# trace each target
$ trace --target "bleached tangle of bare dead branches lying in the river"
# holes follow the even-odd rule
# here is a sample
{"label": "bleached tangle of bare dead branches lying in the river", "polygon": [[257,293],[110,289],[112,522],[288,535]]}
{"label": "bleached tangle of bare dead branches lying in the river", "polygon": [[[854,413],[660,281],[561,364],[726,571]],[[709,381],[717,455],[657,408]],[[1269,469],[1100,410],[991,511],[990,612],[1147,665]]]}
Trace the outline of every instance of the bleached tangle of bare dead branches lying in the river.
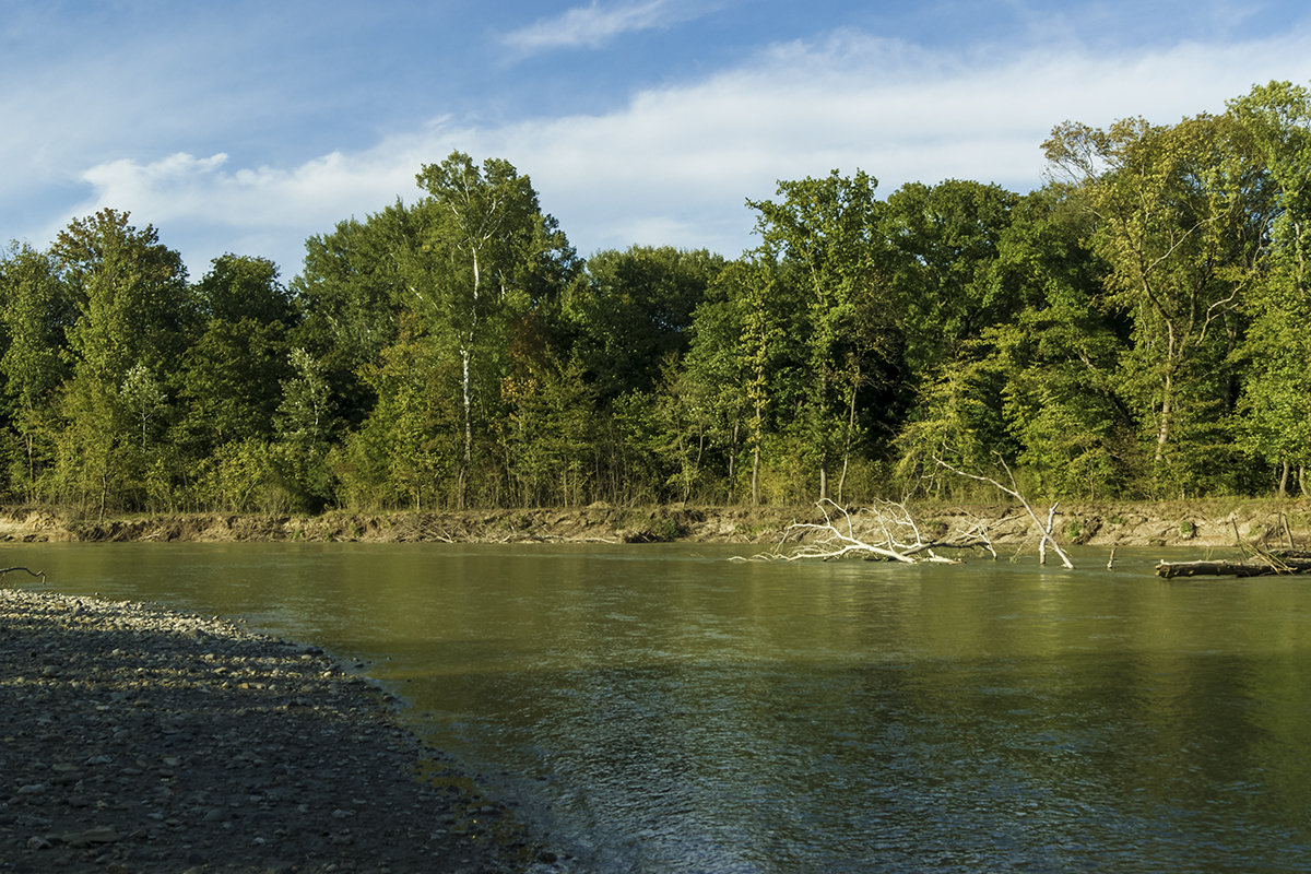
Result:
{"label": "bleached tangle of bare dead branches lying in the river", "polygon": [[[958,560],[939,556],[933,550],[974,546],[987,549],[996,558],[996,552],[987,536],[987,528],[982,523],[953,532],[944,540],[929,541],[924,540],[919,525],[915,524],[915,519],[905,504],[891,501],[880,501],[855,512],[827,498],[815,502],[815,507],[823,515],[823,523],[792,523],[784,529],[783,539],[775,552],[756,556],[756,558],[829,561],[859,556],[865,560],[894,561],[905,565],[958,563]],[[785,553],[784,545],[793,539],[808,540],[798,542],[791,553]]]}

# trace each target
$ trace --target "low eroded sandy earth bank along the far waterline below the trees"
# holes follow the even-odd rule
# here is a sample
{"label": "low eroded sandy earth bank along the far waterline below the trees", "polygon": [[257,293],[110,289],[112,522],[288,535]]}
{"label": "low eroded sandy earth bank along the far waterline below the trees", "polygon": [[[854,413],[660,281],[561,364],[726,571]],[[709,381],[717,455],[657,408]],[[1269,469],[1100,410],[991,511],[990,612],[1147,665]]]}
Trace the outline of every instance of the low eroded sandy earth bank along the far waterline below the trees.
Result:
{"label": "low eroded sandy earth bank along the far waterline below the trees", "polygon": [[[926,537],[983,524],[998,544],[1034,540],[1017,504],[910,506]],[[1046,506],[1036,507],[1045,516]],[[5,541],[371,541],[371,542],[777,542],[793,522],[818,522],[815,507],[612,507],[468,510],[319,516],[233,514],[84,518],[51,508],[0,510]],[[1299,545],[1311,541],[1311,502],[1207,499],[1062,506],[1055,536],[1087,546]]]}

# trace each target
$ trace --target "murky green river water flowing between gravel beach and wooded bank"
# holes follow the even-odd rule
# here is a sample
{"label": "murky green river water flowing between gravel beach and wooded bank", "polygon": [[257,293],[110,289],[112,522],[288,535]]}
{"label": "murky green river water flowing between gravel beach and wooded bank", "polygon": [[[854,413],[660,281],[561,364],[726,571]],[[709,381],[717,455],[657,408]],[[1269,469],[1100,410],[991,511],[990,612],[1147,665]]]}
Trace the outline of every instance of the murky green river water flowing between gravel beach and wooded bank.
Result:
{"label": "murky green river water flowing between gravel beach and wooded bank", "polygon": [[1164,550],[1063,571],[728,561],[741,549],[31,544],[0,562],[361,659],[576,870],[1311,870],[1311,583],[1164,582]]}

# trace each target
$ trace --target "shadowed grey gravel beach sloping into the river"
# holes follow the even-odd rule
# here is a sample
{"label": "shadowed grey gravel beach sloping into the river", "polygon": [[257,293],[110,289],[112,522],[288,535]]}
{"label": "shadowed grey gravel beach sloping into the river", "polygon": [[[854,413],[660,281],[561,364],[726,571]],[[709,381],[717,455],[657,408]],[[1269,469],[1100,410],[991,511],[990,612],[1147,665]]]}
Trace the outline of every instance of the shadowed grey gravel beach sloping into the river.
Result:
{"label": "shadowed grey gravel beach sloping into the river", "polygon": [[0,871],[556,871],[321,650],[0,588]]}

